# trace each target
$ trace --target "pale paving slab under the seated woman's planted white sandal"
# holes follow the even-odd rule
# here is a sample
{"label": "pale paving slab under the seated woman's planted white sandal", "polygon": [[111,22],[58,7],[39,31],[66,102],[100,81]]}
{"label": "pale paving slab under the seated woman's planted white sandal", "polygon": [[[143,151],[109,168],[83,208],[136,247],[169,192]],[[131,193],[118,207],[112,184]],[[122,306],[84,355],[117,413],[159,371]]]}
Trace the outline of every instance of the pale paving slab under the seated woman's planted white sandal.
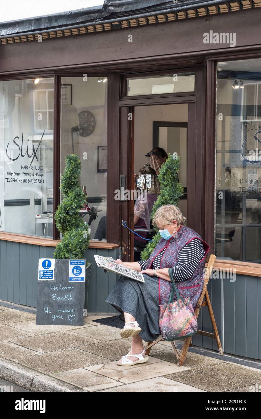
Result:
{"label": "pale paving slab under the seated woman's planted white sandal", "polygon": [[136,364],[129,367],[117,365],[116,362],[107,362],[103,365],[85,367],[85,369],[125,384],[166,375],[166,372],[187,370],[186,367],[178,367],[171,362],[157,360],[153,357],[149,357],[148,361],[143,364]]}

